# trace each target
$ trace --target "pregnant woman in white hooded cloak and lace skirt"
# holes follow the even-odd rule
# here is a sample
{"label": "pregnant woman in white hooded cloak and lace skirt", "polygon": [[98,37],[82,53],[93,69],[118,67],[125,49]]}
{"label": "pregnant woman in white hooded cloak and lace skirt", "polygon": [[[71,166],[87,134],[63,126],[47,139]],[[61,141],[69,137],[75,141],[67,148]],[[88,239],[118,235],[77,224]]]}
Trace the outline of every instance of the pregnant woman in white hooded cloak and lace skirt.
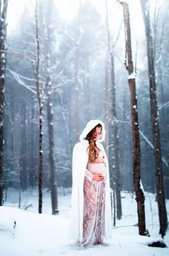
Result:
{"label": "pregnant woman in white hooded cloak and lace skirt", "polygon": [[107,157],[100,142],[105,125],[100,120],[87,123],[74,146],[72,160],[72,238],[80,247],[105,244],[112,235],[110,178]]}

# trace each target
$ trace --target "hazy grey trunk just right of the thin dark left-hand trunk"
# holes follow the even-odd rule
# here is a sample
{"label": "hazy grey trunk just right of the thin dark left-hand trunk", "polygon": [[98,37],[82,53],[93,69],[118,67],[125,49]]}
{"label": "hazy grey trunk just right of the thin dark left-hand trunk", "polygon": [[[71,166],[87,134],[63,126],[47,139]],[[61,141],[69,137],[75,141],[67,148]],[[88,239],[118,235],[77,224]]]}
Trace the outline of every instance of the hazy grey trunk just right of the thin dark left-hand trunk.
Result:
{"label": "hazy grey trunk just right of the thin dark left-hand trunk", "polygon": [[[45,1],[44,1],[45,2]],[[52,1],[46,1],[44,3],[44,9],[42,11],[42,26],[43,26],[43,38],[44,38],[44,77],[45,77],[45,89],[47,94],[47,125],[49,135],[49,170],[50,170],[50,183],[49,189],[51,192],[52,201],[52,214],[59,214],[58,211],[58,196],[57,196],[57,180],[56,180],[56,168],[54,165],[54,116],[52,105],[52,81],[51,81],[51,42],[54,31],[50,26],[52,24],[52,9],[54,8]],[[44,107],[44,106],[43,106]]]}

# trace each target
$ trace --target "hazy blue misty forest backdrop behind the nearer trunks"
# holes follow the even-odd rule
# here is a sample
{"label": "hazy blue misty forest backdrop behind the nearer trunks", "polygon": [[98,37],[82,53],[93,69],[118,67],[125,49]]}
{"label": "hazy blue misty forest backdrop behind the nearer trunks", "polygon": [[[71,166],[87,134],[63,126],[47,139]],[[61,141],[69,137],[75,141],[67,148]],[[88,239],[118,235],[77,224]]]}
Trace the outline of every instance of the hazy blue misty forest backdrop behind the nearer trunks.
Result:
{"label": "hazy blue misty forest backdrop behind the nearer trunks", "polygon": [[[107,95],[107,30],[105,1],[38,1],[40,43],[40,91],[44,89],[45,44],[49,47],[52,113],[54,116],[54,160],[58,187],[72,185],[72,148],[90,119],[111,122],[111,100]],[[150,124],[150,98],[145,32],[140,1],[130,6],[132,55],[137,71],[137,101],[141,140],[141,172],[146,191],[155,191],[155,170]],[[107,0],[111,45],[115,52],[115,83],[118,134],[120,137],[121,188],[132,191],[132,135],[130,91],[127,84],[125,32],[122,6]],[[5,91],[4,177],[9,187],[37,188],[39,170],[38,105],[32,60],[36,52],[35,1],[9,0],[7,14],[7,64]],[[165,181],[168,188],[169,114],[168,114],[168,1],[150,1],[151,24],[155,37],[155,63],[158,84],[160,134]],[[47,37],[48,35],[48,37]],[[45,41],[45,38],[47,41]],[[47,52],[46,52],[47,53]],[[46,55],[47,57],[48,55]],[[158,72],[160,63],[161,73]],[[163,87],[161,86],[163,83]],[[59,86],[59,87],[58,87]],[[163,89],[163,91],[162,91]],[[165,104],[165,106],[163,106]],[[161,109],[160,109],[161,108]],[[49,137],[47,108],[43,108],[44,176],[49,188]],[[77,125],[78,122],[78,125]],[[78,127],[78,128],[77,128]],[[105,148],[109,145],[105,142]],[[111,171],[111,166],[110,166]],[[50,188],[49,188],[50,189]]]}

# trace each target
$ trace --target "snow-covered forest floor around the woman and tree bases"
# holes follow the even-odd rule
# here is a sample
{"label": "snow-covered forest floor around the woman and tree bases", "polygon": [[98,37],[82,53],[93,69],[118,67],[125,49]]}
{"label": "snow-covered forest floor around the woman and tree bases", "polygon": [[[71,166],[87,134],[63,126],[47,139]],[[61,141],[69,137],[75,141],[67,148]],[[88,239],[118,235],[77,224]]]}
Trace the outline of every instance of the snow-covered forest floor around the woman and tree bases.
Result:
{"label": "snow-covered forest floor around the woman and tree bases", "polygon": [[[112,228],[109,246],[95,245],[85,250],[79,250],[69,239],[70,191],[59,189],[58,216],[51,215],[47,191],[44,191],[43,214],[37,214],[37,191],[22,193],[21,209],[18,209],[18,197],[18,192],[10,189],[4,206],[0,207],[0,256],[169,255],[169,230],[164,239],[167,248],[148,247],[148,243],[161,239],[158,208],[152,193],[145,193],[146,227],[150,237],[138,235],[135,197],[123,191],[122,219]],[[169,212],[169,201],[166,204]]]}

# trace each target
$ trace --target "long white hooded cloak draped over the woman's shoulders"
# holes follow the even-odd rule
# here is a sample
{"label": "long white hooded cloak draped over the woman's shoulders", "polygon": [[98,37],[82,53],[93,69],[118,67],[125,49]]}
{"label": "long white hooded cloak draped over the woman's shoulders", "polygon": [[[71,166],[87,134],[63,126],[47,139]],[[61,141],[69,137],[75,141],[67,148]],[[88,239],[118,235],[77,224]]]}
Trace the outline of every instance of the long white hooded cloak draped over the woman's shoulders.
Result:
{"label": "long white hooded cloak draped over the woman's shoulders", "polygon": [[105,140],[105,124],[101,120],[90,120],[79,137],[80,142],[74,145],[72,157],[72,204],[71,204],[71,219],[70,219],[70,236],[74,241],[82,242],[83,233],[83,208],[84,208],[84,175],[87,168],[88,153],[87,147],[89,142],[84,140],[84,137],[97,126],[102,125],[102,133],[100,139],[96,141],[96,145],[102,150],[105,157],[107,167],[106,184],[105,184],[105,231],[106,239],[112,236],[112,216],[110,204],[110,175],[108,168],[107,156],[100,142]]}

